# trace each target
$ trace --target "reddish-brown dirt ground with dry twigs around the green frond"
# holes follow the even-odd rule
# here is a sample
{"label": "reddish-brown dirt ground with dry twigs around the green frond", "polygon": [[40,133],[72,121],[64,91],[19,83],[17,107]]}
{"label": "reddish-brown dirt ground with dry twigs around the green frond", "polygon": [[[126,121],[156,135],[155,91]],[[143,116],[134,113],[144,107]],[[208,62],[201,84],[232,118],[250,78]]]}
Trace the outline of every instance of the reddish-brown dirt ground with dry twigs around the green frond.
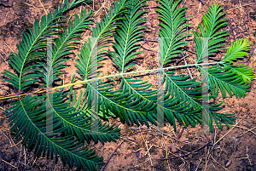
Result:
{"label": "reddish-brown dirt ground with dry twigs around the green frond", "polygon": [[[59,1],[42,0],[44,8],[46,10],[55,9]],[[113,3],[112,1],[105,1],[107,7],[102,8],[96,15],[96,21],[99,21],[105,10],[108,11],[108,7]],[[198,24],[201,22],[202,14],[206,13],[207,7],[215,1],[207,1],[205,4],[201,4],[198,0],[186,0],[186,7],[188,7],[188,16],[193,16],[189,19],[189,23],[193,24],[191,30],[195,30]],[[256,3],[255,0],[239,1],[216,1],[224,6],[224,11],[227,11],[226,17],[228,18],[228,26],[224,29],[230,31],[230,37],[227,43],[227,47],[230,43],[234,42],[236,38],[245,37],[249,40],[252,47],[250,54],[253,52],[255,46],[256,37]],[[97,0],[95,2],[95,9],[100,9],[103,1]],[[156,1],[147,2],[150,9],[147,13],[148,31],[145,33],[145,38],[157,37],[158,35],[158,20],[154,7]],[[244,5],[238,8],[240,5]],[[89,9],[89,6],[83,5],[75,9],[75,13],[79,14],[80,9]],[[92,5],[90,4],[90,8]],[[22,36],[22,32],[26,27],[32,28],[32,23],[35,19],[39,19],[44,14],[44,9],[38,0],[1,0],[0,1],[0,72],[4,69],[11,71],[12,69],[5,63],[7,56],[11,51],[17,52],[16,43],[19,43]],[[70,13],[71,14],[71,13]],[[250,14],[248,17],[247,14]],[[90,35],[90,34],[89,34]],[[88,35],[84,35],[86,37]],[[189,37],[189,40],[193,40],[193,37]],[[7,45],[9,48],[7,47]],[[189,49],[193,43],[189,43]],[[143,48],[155,47],[154,42],[143,43]],[[142,66],[144,70],[150,66],[149,60],[152,61],[154,67],[156,67],[156,54],[152,51],[144,50],[144,54],[140,54],[138,57],[137,66]],[[77,52],[78,53],[78,52]],[[220,56],[219,56],[220,57]],[[3,60],[4,59],[4,60]],[[74,57],[75,59],[75,57]],[[74,59],[67,62],[67,71],[74,73],[76,68],[74,66]],[[195,56],[187,58],[188,63],[192,63]],[[251,57],[248,65],[256,69],[255,54]],[[245,63],[247,60],[244,60]],[[106,60],[105,65],[102,68],[102,75],[107,75],[108,71],[116,73],[113,66],[109,66],[110,60]],[[180,63],[182,65],[183,62]],[[135,69],[137,69],[137,66]],[[193,70],[193,68],[191,69]],[[144,76],[143,80],[148,80],[149,83],[153,83],[156,88],[155,76]],[[70,78],[65,77],[65,83],[69,83]],[[256,134],[253,128],[256,127],[255,120],[255,101],[256,101],[256,85],[255,80],[251,83],[251,91],[247,93],[246,98],[236,99],[236,97],[228,97],[224,103],[224,110],[229,112],[236,112],[237,125],[230,129],[224,127],[223,130],[215,128],[215,133],[207,134],[207,138],[200,134],[201,126],[198,125],[195,128],[183,128],[178,127],[177,132],[172,131],[172,127],[168,125],[165,130],[170,132],[167,135],[155,134],[154,127],[151,128],[129,128],[126,124],[121,124],[119,119],[110,119],[110,123],[120,126],[121,139],[117,143],[111,142],[102,145],[90,144],[90,147],[96,150],[96,154],[104,157],[104,162],[113,153],[114,149],[119,145],[117,151],[113,153],[110,161],[108,162],[105,170],[256,170]],[[14,91],[6,85],[2,80],[0,81],[0,96],[13,94]],[[9,107],[9,103],[14,100],[0,101],[0,170],[75,170],[74,168],[63,167],[61,162],[55,164],[54,161],[48,160],[45,157],[33,158],[32,151],[24,149],[20,145],[22,136],[15,139],[14,134],[9,133],[9,122],[3,114],[3,109]],[[218,97],[217,101],[222,101]],[[231,128],[233,128],[231,130]],[[252,128],[251,131],[248,129]],[[132,132],[132,134],[130,134]],[[127,137],[127,135],[129,136]],[[180,136],[180,139],[172,140],[171,137]],[[126,139],[125,139],[126,137]],[[207,145],[199,151],[195,151],[202,145],[205,145],[207,139],[214,142],[218,142],[215,145],[215,150],[211,151],[212,147]],[[219,141],[218,141],[219,140]],[[179,142],[181,141],[181,142]],[[151,147],[151,148],[150,148]],[[146,153],[149,149],[149,152]],[[168,161],[154,161],[157,158],[175,157],[192,152],[188,156],[178,157],[176,159]],[[224,167],[226,166],[226,167]]]}

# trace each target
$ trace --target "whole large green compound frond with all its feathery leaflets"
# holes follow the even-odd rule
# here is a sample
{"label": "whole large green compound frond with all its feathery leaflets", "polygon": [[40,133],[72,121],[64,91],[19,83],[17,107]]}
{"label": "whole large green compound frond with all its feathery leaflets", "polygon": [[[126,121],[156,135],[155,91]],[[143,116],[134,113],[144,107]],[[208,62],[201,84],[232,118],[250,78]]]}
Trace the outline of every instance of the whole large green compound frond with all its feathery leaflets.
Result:
{"label": "whole large green compound frond with all its feathery leaflets", "polygon": [[[40,24],[36,20],[34,31],[24,33],[17,45],[19,54],[10,54],[8,60],[15,72],[3,72],[3,79],[11,83],[16,92],[29,93],[35,83],[40,83],[41,88],[51,83],[58,84],[59,75],[65,73],[65,62],[77,49],[82,32],[93,24],[93,11],[81,10],[80,15],[74,15],[73,22],[69,21],[67,28],[61,27],[61,23],[66,22],[63,14],[83,2],[73,0],[69,4],[65,0],[63,7],[60,5],[54,14],[43,16]],[[234,123],[235,114],[219,112],[224,101],[214,104],[209,103],[209,100],[215,99],[219,90],[223,98],[227,93],[240,98],[246,95],[249,90],[247,83],[252,81],[254,71],[248,66],[233,63],[247,55],[250,49],[248,41],[236,40],[227,49],[224,59],[208,64],[208,57],[223,51],[225,37],[229,35],[228,31],[222,31],[227,21],[220,5],[212,4],[207,14],[203,15],[200,31],[189,34],[186,8],[178,8],[181,0],[158,0],[158,83],[163,85],[163,91],[152,89],[152,84],[147,81],[125,77],[136,65],[137,54],[143,53],[138,49],[143,42],[143,31],[147,28],[143,26],[146,22],[143,14],[147,11],[141,9],[146,5],[144,2],[119,0],[113,3],[109,14],[105,14],[102,21],[92,28],[91,37],[84,42],[78,60],[75,60],[77,74],[83,83],[78,96],[77,90],[73,88],[73,76],[68,93],[64,93],[64,89],[51,93],[47,89],[47,94],[27,94],[5,111],[9,116],[11,131],[16,132],[15,137],[24,135],[22,145],[27,148],[34,146],[35,156],[55,157],[57,162],[59,155],[64,165],[67,162],[70,167],[75,165],[79,169],[99,170],[104,163],[102,157],[97,157],[95,151],[84,147],[84,143],[89,144],[91,140],[102,144],[116,141],[120,129],[102,123],[96,115],[105,119],[119,117],[122,123],[128,125],[158,125],[163,121],[163,124],[172,124],[175,130],[177,122],[187,128],[188,125],[195,127],[204,120],[211,130],[213,121],[218,128],[223,128],[222,123],[228,127]],[[189,76],[175,75],[176,67],[171,66],[183,54],[183,48],[193,35],[197,53],[194,66],[201,72],[201,82]],[[53,40],[51,60],[46,50],[49,48],[49,37]],[[107,48],[113,48],[113,51]],[[119,71],[120,84],[115,90],[112,83],[101,78],[93,80],[101,74],[96,69],[104,65],[102,61],[107,55]],[[203,63],[208,67],[202,66]],[[171,69],[163,69],[169,66]],[[205,83],[209,83],[208,86]],[[207,98],[205,94],[208,94]],[[207,118],[202,117],[203,112],[207,113]]]}

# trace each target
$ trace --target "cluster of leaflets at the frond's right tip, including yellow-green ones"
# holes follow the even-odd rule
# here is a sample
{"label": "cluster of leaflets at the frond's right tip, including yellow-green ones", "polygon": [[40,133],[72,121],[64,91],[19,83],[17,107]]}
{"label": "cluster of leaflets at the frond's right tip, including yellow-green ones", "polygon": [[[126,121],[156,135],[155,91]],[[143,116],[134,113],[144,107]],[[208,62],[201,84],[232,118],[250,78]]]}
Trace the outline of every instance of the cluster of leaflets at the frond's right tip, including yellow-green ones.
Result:
{"label": "cluster of leaflets at the frond's right tip, including yellow-green ones", "polygon": [[[203,59],[208,56],[216,54],[217,51],[222,50],[224,44],[220,44],[226,40],[228,31],[219,31],[221,26],[227,24],[226,19],[221,17],[224,13],[221,13],[220,5],[213,4],[208,10],[208,14],[204,14],[202,26],[199,25],[201,34],[194,31],[195,35],[195,48],[197,52],[197,63],[201,63]],[[204,40],[203,38],[204,37]],[[223,98],[226,97],[226,91],[232,96],[232,93],[236,97],[244,97],[248,91],[249,86],[247,81],[245,82],[245,77],[241,77],[240,74],[244,72],[244,76],[247,76],[249,80],[252,79],[253,71],[245,71],[243,68],[241,72],[230,70],[230,65],[226,64],[229,61],[237,60],[243,58],[247,54],[249,49],[247,41],[237,40],[236,43],[232,43],[220,65],[211,66],[208,68],[208,72],[203,70],[201,66],[197,66],[198,70],[201,71],[203,79],[209,79],[212,94],[216,97],[218,95],[218,88],[220,89]],[[222,65],[224,64],[225,65]],[[236,69],[238,66],[234,66]],[[231,67],[232,68],[232,67]],[[239,69],[238,69],[239,70]],[[251,77],[250,77],[251,76]]]}

